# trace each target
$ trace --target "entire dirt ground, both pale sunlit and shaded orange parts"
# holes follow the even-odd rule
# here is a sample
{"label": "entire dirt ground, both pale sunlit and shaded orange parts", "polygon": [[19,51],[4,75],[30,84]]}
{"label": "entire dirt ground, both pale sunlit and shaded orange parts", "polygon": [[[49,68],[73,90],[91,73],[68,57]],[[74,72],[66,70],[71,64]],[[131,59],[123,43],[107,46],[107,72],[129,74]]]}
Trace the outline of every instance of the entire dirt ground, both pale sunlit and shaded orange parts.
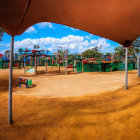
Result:
{"label": "entire dirt ground, both pale sunlit and shaded orange parts", "polygon": [[[139,140],[140,78],[129,71],[68,75],[38,68],[38,75],[14,69],[13,120],[8,126],[8,70],[0,70],[0,140]],[[19,77],[33,87],[19,88]]]}

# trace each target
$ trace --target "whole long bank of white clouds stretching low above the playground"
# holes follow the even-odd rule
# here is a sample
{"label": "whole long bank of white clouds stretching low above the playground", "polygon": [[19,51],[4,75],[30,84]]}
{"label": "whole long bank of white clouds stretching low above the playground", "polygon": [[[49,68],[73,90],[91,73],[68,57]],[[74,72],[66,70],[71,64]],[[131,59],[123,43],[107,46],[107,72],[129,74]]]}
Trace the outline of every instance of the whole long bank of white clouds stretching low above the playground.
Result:
{"label": "whole long bank of white clouds stretching low above the playground", "polygon": [[62,49],[68,49],[70,53],[81,53],[87,49],[92,49],[96,46],[99,47],[100,45],[102,45],[102,53],[106,52],[106,50],[108,52],[112,51],[111,45],[106,39],[87,40],[86,37],[83,36],[68,35],[62,38],[27,38],[21,41],[15,41],[15,52],[17,52],[19,48],[33,49],[33,46],[36,44],[40,46],[40,49],[48,49],[52,52],[57,51],[58,46],[61,46]]}

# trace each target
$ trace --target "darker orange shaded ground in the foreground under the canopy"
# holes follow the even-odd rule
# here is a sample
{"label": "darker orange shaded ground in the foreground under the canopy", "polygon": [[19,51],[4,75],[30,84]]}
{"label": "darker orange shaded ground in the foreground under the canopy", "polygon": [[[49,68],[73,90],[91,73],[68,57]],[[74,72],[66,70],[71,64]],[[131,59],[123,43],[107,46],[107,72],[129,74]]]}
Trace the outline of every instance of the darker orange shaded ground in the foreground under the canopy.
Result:
{"label": "darker orange shaded ground in the foreground under the canopy", "polygon": [[0,136],[7,139],[139,140],[140,86],[95,96],[36,98],[15,96],[14,124],[7,125],[1,96]]}

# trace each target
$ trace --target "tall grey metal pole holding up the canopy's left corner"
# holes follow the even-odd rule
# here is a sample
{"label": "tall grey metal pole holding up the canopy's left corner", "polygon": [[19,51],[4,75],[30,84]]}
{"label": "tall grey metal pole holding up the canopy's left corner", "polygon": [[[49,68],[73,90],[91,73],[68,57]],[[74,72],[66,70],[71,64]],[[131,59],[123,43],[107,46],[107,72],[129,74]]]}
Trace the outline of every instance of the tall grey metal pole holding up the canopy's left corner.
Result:
{"label": "tall grey metal pole holding up the canopy's left corner", "polygon": [[8,124],[13,123],[12,120],[12,69],[13,69],[13,49],[14,49],[14,36],[11,38],[10,48],[10,65],[9,65],[9,106],[8,106]]}

